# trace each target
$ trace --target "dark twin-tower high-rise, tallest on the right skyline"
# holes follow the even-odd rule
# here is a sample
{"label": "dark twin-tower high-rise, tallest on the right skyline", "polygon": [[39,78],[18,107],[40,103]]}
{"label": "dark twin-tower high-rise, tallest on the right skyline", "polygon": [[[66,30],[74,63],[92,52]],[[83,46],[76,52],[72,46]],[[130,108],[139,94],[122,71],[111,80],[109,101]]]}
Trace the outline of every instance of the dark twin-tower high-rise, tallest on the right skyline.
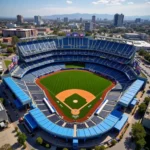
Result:
{"label": "dark twin-tower high-rise, tallest on the right skyline", "polygon": [[121,27],[123,26],[124,15],[123,14],[115,14],[114,15],[114,26]]}

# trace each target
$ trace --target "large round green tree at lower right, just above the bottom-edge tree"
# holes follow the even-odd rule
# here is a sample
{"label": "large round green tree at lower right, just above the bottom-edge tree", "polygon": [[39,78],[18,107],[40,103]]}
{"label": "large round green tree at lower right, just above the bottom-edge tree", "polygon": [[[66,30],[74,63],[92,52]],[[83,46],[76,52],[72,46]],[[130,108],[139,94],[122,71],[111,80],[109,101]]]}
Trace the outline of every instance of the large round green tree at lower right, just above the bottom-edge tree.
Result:
{"label": "large round green tree at lower right, just above the bottom-edge tree", "polygon": [[145,138],[146,132],[144,127],[140,123],[135,123],[132,125],[131,135],[135,141]]}

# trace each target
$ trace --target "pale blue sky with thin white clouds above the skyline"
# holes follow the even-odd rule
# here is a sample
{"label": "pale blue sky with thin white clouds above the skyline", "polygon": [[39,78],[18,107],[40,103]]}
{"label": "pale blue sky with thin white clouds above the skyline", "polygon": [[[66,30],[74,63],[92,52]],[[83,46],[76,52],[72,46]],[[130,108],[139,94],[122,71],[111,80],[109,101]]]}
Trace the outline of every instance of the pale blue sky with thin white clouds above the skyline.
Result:
{"label": "pale blue sky with thin white clouds above the skyline", "polygon": [[70,13],[150,15],[150,0],[0,0],[0,16]]}

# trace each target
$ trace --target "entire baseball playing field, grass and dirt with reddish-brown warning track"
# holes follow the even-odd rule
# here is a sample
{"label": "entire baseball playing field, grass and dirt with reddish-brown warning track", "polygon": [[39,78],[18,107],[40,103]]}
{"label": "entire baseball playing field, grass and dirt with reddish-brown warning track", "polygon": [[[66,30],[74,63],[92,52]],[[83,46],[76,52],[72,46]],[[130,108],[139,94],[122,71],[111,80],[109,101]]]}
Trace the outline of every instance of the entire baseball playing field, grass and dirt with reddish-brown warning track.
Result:
{"label": "entire baseball playing field, grass and dirt with reddish-brown warning track", "polygon": [[88,119],[104,100],[103,94],[115,85],[109,79],[82,70],[55,72],[36,83],[62,118],[70,122]]}

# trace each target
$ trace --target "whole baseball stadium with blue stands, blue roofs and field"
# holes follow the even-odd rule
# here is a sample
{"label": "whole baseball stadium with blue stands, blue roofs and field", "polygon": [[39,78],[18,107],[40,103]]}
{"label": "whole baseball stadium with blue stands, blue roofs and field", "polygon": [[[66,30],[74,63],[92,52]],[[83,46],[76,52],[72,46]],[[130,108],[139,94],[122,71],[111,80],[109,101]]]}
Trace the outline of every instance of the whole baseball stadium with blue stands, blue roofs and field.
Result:
{"label": "whole baseball stadium with blue stands, blue roofs and field", "polygon": [[70,34],[20,39],[3,86],[24,124],[57,147],[91,148],[128,121],[145,81],[126,41]]}

